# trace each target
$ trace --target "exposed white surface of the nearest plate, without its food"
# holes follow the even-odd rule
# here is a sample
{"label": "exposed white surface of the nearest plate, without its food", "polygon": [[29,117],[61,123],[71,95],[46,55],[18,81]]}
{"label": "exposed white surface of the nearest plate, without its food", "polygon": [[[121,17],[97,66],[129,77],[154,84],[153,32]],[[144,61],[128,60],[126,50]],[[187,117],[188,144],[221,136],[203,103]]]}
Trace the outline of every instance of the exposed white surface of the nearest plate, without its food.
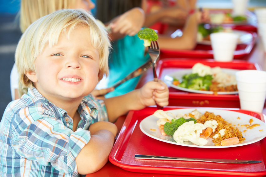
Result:
{"label": "exposed white surface of the nearest plate, without its food", "polygon": [[[167,112],[172,112],[176,115],[178,112],[181,112],[183,114],[187,114],[187,113],[192,112],[194,110],[195,110],[195,108],[175,109],[175,110],[170,110]],[[243,114],[240,112],[227,111],[227,110],[217,110],[217,109],[197,109],[197,110],[199,112],[201,112],[202,114],[204,114],[206,111],[208,111],[208,112],[213,112],[215,115],[220,115],[228,123],[232,123],[232,125],[236,125],[236,127],[242,132],[242,135],[243,135],[243,137],[246,138],[246,140],[244,140],[241,143],[231,145],[231,146],[215,146],[214,143],[212,142],[212,138],[207,139],[208,143],[205,146],[193,145],[190,141],[184,142],[187,144],[176,143],[176,141],[173,139],[172,136],[161,135],[160,130],[156,124],[156,121],[159,118],[155,117],[154,115],[151,115],[151,116],[144,118],[140,122],[139,128],[144,134],[146,134],[147,136],[154,138],[156,140],[163,141],[165,143],[171,143],[171,144],[176,144],[176,145],[180,145],[180,146],[196,147],[196,148],[230,148],[230,147],[244,146],[247,144],[255,143],[255,142],[265,138],[265,136],[266,136],[265,123],[262,122],[261,120],[255,118],[255,117],[253,117],[253,116]],[[237,117],[240,117],[240,119],[237,119]],[[258,124],[260,124],[260,126],[254,127],[253,129],[247,129],[244,126],[241,127],[241,125],[243,125],[243,124],[249,124],[250,119],[253,119],[252,124],[258,123]],[[239,124],[239,126],[237,126],[238,124]],[[155,129],[155,131],[150,130],[150,129]],[[247,131],[245,133],[243,133],[243,130],[247,130]],[[259,131],[259,130],[263,130],[263,131]]]}

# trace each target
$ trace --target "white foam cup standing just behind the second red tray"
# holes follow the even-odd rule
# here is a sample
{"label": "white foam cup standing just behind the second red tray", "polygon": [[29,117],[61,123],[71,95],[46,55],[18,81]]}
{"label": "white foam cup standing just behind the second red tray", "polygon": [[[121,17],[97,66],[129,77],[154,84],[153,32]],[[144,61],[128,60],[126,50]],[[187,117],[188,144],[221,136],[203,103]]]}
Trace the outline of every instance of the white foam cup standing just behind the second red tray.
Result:
{"label": "white foam cup standing just behind the second red tray", "polygon": [[232,61],[238,37],[238,34],[234,33],[212,33],[210,38],[214,60]]}

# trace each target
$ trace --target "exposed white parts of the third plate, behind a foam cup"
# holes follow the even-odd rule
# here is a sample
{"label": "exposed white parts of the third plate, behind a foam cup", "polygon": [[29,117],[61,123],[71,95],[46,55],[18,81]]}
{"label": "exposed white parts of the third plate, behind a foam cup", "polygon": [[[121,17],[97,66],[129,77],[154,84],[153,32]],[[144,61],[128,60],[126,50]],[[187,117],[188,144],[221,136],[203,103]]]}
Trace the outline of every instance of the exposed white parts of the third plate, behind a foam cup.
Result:
{"label": "exposed white parts of the third plate, behind a foam cup", "polygon": [[[237,44],[246,44],[246,43],[250,43],[253,40],[252,34],[246,32],[246,31],[233,30],[233,33],[239,35]],[[210,40],[197,41],[197,43],[198,44],[204,44],[204,45],[211,45],[211,41]]]}

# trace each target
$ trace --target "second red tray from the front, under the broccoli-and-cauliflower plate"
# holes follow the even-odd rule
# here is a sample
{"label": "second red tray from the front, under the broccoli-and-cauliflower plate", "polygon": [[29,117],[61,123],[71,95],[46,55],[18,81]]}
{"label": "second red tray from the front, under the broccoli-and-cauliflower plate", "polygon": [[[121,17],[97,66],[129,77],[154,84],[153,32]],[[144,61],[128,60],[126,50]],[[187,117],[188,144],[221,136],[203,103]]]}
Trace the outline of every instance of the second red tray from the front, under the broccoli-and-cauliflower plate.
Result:
{"label": "second red tray from the front, under the broccoli-and-cauliflower plate", "polygon": [[[250,63],[243,60],[233,60],[232,62],[217,62],[206,59],[177,59],[169,58],[159,60],[157,73],[161,80],[164,76],[186,68],[192,68],[196,63],[202,63],[211,67],[220,66],[238,70],[260,70],[257,63]],[[169,106],[193,106],[193,107],[230,107],[240,108],[238,94],[236,95],[213,95],[191,93],[169,87]]]}

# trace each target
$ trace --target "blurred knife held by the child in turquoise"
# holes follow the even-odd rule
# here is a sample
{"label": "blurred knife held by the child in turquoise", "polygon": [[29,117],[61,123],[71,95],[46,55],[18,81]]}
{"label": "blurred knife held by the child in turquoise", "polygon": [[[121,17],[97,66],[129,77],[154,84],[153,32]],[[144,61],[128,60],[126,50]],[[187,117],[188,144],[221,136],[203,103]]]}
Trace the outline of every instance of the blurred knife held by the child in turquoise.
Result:
{"label": "blurred knife held by the child in turquoise", "polygon": [[137,77],[141,74],[143,74],[146,70],[148,70],[150,67],[152,66],[152,60],[149,59],[146,63],[144,63],[143,65],[141,65],[138,69],[134,70],[133,72],[131,72],[130,74],[128,74],[124,79],[117,81],[115,83],[114,88],[120,86],[121,84],[123,84],[125,81],[128,81],[129,79],[133,78],[133,77]]}

